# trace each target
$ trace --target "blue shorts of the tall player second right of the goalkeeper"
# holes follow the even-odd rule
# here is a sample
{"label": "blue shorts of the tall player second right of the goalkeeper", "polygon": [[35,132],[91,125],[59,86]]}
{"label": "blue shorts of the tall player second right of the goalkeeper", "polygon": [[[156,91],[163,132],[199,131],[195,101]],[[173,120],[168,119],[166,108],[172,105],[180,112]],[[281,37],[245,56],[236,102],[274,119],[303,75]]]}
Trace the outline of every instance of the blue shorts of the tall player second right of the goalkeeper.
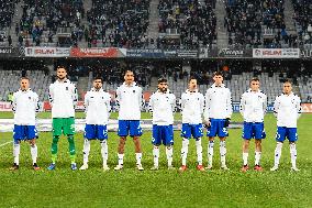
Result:
{"label": "blue shorts of the tall player second right of the goalkeeper", "polygon": [[143,134],[140,120],[119,120],[119,136],[141,136]]}

